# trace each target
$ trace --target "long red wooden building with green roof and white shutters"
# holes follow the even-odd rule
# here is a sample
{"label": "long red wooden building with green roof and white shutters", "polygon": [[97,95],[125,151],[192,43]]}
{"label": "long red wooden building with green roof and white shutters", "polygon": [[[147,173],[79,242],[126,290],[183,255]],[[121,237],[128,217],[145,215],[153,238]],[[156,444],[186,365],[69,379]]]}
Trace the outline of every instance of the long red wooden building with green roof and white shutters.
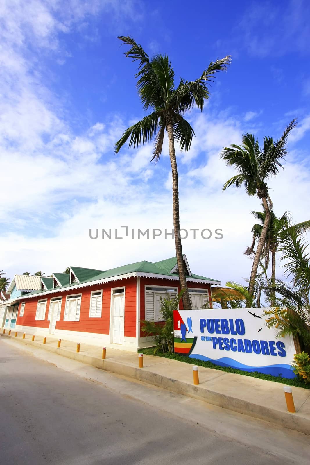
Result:
{"label": "long red wooden building with green roof and white shutters", "polygon": [[[211,285],[220,282],[192,274],[185,255],[184,262],[192,307],[212,306]],[[2,321],[10,327],[15,309],[17,331],[137,351],[151,345],[140,320],[160,321],[160,297],[179,290],[176,257],[106,271],[72,266],[70,274],[42,277],[40,290],[7,300]]]}

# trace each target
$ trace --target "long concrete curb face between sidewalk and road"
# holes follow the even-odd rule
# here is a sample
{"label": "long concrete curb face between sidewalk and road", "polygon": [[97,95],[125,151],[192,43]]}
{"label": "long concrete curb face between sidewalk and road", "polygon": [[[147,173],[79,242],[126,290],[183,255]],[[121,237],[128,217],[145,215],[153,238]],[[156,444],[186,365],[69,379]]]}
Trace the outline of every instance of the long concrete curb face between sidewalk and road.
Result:
{"label": "long concrete curb face between sidewalk and road", "polygon": [[263,419],[270,423],[280,425],[291,430],[296,430],[305,434],[310,434],[310,418],[307,419],[298,412],[290,413],[284,411],[278,411],[268,406],[257,405],[255,403],[238,399],[236,397],[228,396],[214,390],[202,388],[199,385],[193,385],[186,381],[180,381],[163,376],[158,373],[148,371],[147,367],[139,368],[126,365],[117,360],[110,359],[99,359],[90,355],[83,354],[81,352],[76,353],[64,348],[57,348],[50,345],[42,344],[38,341],[29,341],[26,339],[17,339],[13,335],[1,334],[7,338],[13,338],[14,341],[24,343],[26,345],[33,345],[40,349],[44,349],[48,352],[57,353],[63,357],[69,359],[78,360],[79,362],[87,365],[92,365],[101,370],[106,370],[111,373],[126,376],[128,378],[137,379],[145,383],[155,385],[160,388],[164,388],[171,392],[176,392],[184,396],[188,396],[194,399],[203,400],[212,405],[217,405],[233,412],[242,413],[257,419]]}

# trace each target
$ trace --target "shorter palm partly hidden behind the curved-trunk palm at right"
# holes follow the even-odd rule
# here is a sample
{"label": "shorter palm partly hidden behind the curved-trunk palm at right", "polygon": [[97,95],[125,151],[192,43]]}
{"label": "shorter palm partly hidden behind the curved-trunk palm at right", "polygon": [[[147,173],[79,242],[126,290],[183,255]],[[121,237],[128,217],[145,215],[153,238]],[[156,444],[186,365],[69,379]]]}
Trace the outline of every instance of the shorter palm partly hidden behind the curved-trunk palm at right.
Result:
{"label": "shorter palm partly hidden behind the curved-trunk palm at right", "polygon": [[[251,255],[253,253],[255,243],[259,240],[262,229],[264,226],[264,221],[266,214],[265,212],[252,212],[256,219],[260,223],[255,224],[252,227],[253,241],[251,247],[248,247],[245,251],[246,255]],[[281,240],[284,239],[285,235],[288,233],[289,228],[294,228],[296,231],[306,233],[310,230],[310,220],[303,221],[302,223],[292,224],[290,214],[285,212],[281,218],[277,218],[273,209],[270,209],[270,220],[268,225],[267,234],[265,237],[265,242],[263,246],[263,254],[265,257],[265,267],[268,268],[270,263],[271,255],[271,283],[275,283],[276,279],[276,252]],[[271,306],[276,305],[276,296],[271,294]]]}

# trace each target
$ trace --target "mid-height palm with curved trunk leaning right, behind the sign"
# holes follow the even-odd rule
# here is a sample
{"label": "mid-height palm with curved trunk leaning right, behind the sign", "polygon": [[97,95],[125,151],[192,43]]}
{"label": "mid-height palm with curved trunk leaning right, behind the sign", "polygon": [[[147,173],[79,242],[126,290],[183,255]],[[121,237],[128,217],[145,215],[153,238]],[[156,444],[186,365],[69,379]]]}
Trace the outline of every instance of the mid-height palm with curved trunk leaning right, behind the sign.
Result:
{"label": "mid-height palm with curved trunk leaning right, behind the sign", "polygon": [[[221,157],[226,160],[227,166],[237,168],[238,174],[229,179],[223,187],[223,191],[229,186],[245,187],[248,195],[257,195],[262,200],[265,212],[264,225],[257,243],[251,276],[249,282],[249,296],[253,295],[255,278],[260,256],[263,252],[268,225],[270,222],[270,207],[272,202],[268,193],[267,181],[272,175],[276,175],[280,163],[287,154],[287,138],[291,130],[296,126],[296,120],[292,120],[284,129],[279,140],[274,141],[271,137],[264,137],[264,147],[260,148],[258,140],[251,133],[242,136],[242,145],[232,144],[224,147]],[[251,298],[247,299],[247,306],[251,305]]]}

